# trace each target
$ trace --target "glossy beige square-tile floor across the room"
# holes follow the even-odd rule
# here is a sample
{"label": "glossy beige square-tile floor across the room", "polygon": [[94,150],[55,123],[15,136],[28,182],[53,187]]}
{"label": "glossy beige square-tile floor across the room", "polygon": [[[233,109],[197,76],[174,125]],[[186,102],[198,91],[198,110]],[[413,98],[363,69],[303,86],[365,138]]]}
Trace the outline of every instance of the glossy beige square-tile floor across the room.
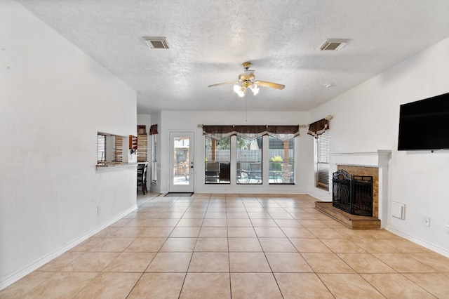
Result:
{"label": "glossy beige square-tile floor across the room", "polygon": [[[151,194],[150,194],[151,195]],[[307,195],[140,197],[0,298],[449,298],[449,259]]]}

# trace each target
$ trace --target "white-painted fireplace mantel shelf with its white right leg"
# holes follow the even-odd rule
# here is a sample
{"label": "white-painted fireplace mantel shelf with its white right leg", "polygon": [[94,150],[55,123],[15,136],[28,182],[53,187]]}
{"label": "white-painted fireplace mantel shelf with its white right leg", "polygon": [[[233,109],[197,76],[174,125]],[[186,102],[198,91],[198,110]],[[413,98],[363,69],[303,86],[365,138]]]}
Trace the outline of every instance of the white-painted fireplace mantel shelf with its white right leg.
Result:
{"label": "white-painted fireplace mantel shelf with its white right leg", "polygon": [[[337,171],[338,165],[364,166],[379,168],[379,219],[382,227],[388,221],[388,164],[391,150],[373,152],[331,152],[329,171]],[[332,175],[330,175],[330,179]]]}

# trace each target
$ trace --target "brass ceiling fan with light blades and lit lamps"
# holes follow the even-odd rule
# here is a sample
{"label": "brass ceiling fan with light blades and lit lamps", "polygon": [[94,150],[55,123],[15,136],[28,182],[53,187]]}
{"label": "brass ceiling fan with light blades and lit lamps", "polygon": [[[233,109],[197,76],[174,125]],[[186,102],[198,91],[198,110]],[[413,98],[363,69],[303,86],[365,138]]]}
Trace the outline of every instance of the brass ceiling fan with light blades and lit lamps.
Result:
{"label": "brass ceiling fan with light blades and lit lamps", "polygon": [[246,88],[250,88],[250,91],[253,91],[254,95],[257,95],[259,92],[258,86],[265,86],[269,88],[283,89],[286,87],[282,84],[267,82],[267,81],[256,81],[254,76],[254,70],[249,69],[251,67],[251,62],[243,62],[242,67],[245,69],[243,73],[239,74],[239,81],[231,81],[219,84],[212,84],[208,87],[234,84],[234,91],[239,95],[239,97],[245,96]]}

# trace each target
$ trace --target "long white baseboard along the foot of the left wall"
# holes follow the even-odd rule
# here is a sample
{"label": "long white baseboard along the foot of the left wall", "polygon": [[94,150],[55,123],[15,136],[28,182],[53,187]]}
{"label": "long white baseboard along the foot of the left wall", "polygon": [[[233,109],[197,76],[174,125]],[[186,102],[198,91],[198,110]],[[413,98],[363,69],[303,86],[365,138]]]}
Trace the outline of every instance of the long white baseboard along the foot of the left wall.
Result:
{"label": "long white baseboard along the foot of the left wall", "polygon": [[95,228],[95,230],[91,230],[90,232],[87,232],[86,234],[83,234],[78,239],[75,239],[74,241],[71,241],[70,243],[56,249],[52,253],[49,253],[48,255],[43,256],[42,258],[39,258],[39,260],[36,260],[34,263],[31,263],[27,265],[26,267],[22,268],[18,272],[15,272],[5,279],[2,279],[0,281],[0,291],[6,288],[7,286],[15,283],[15,281],[18,281],[22,277],[25,277],[27,274],[33,272],[36,269],[39,269],[39,267],[42,267],[46,263],[53,260],[53,258],[58,258],[62,253],[65,253],[71,248],[74,248],[74,246],[80,244],[82,241],[85,241],[86,239],[92,237],[94,234],[97,234],[98,232],[104,230],[109,225],[112,225],[112,223],[116,222],[117,220],[120,220],[124,216],[128,215],[129,213],[135,211],[138,209],[138,206],[133,206],[131,208],[128,208],[128,210],[120,213],[119,215],[116,215],[114,218],[110,219],[106,223],[100,225],[100,227]]}

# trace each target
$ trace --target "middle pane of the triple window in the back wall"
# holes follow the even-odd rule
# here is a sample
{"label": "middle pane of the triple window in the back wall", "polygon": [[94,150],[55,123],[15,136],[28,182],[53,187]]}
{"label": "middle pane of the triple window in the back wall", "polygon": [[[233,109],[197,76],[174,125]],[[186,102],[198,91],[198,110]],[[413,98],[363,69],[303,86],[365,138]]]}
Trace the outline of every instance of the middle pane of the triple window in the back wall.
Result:
{"label": "middle pane of the triple window in the back wall", "polygon": [[237,136],[237,184],[262,184],[262,136]]}

